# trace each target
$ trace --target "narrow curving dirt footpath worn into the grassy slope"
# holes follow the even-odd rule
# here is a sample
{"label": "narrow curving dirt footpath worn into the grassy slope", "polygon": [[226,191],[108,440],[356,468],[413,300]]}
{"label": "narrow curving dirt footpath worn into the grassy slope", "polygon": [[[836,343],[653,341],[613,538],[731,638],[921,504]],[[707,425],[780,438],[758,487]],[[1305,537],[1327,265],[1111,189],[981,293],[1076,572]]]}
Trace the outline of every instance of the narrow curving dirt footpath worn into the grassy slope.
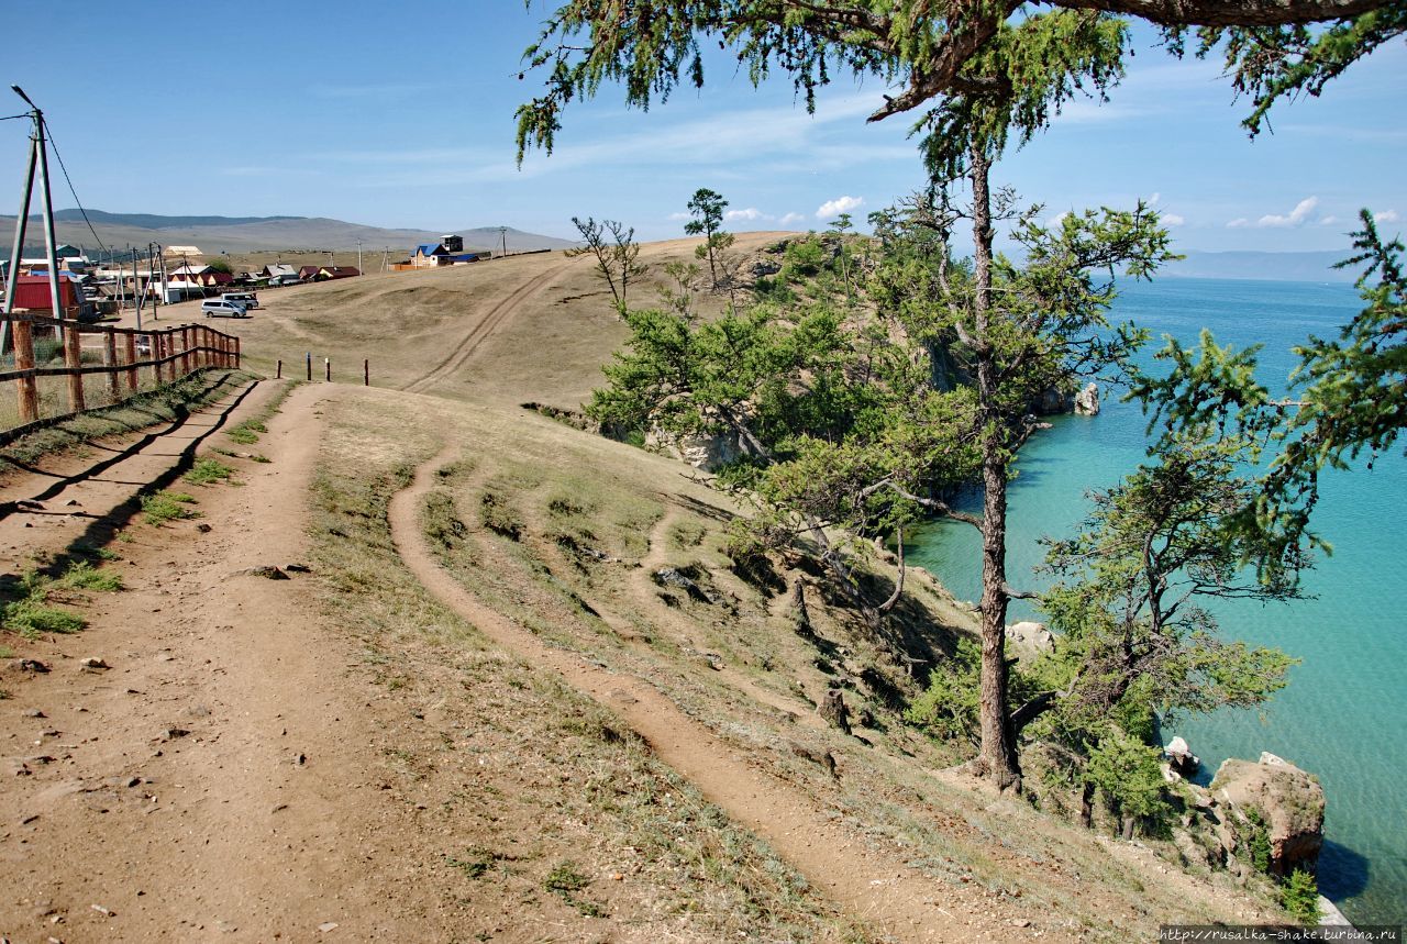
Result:
{"label": "narrow curving dirt footpath worn into the grassy slope", "polygon": [[[829,898],[902,941],[1007,940],[1019,910],[965,888],[937,884],[903,858],[868,843],[815,801],[753,767],[743,753],[685,716],[647,682],[613,674],[543,644],[484,606],[436,563],[419,528],[419,509],[440,467],[460,456],[450,445],[416,470],[391,501],[391,532],[405,566],[442,602],[484,634],[535,665],[560,672],[573,688],[616,712],[656,755],[698,785],[734,822],[757,831]],[[968,921],[981,917],[978,927]],[[1055,937],[1050,940],[1058,940]]]}

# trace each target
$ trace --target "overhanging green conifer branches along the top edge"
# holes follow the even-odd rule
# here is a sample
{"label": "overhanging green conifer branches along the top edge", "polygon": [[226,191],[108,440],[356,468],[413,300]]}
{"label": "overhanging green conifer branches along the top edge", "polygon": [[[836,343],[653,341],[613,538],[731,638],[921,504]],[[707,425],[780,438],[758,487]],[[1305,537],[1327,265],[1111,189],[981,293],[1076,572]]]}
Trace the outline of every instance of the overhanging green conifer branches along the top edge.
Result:
{"label": "overhanging green conifer branches along the top edge", "polygon": [[[1221,52],[1238,91],[1252,97],[1247,128],[1259,131],[1271,107],[1317,96],[1354,62],[1407,30],[1403,0],[1051,0],[1057,14],[1152,24],[1173,55],[1192,31],[1196,55]],[[760,83],[785,73],[815,104],[836,73],[889,86],[870,121],[929,107],[947,96],[1010,91],[1020,70],[992,75],[982,63],[1021,0],[636,0],[629,6],[570,0],[543,25],[523,59],[546,72],[546,90],[518,108],[518,153],[552,152],[561,113],[619,83],[626,103],[649,108],[681,84],[702,87],[704,49],[730,49]],[[526,72],[525,72],[526,75]]]}

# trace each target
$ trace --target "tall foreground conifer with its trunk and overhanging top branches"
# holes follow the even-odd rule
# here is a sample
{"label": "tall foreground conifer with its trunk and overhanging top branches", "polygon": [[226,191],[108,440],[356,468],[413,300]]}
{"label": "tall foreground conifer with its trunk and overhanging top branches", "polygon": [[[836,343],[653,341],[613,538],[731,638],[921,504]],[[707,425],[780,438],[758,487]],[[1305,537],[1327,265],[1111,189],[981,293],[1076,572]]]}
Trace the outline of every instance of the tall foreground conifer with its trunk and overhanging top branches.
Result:
{"label": "tall foreground conifer with its trunk and overhanging top branches", "polygon": [[[965,179],[972,196],[972,277],[961,286],[958,304],[947,305],[954,317],[946,328],[971,352],[979,398],[985,498],[978,767],[1003,788],[1020,785],[1002,651],[1013,595],[1003,561],[1006,480],[1029,435],[1014,394],[1037,376],[1027,370],[1033,364],[1095,363],[1099,356],[1117,363],[1120,352],[1100,340],[1112,287],[1096,288],[1089,272],[1126,266],[1147,276],[1169,255],[1145,208],[1126,217],[1106,212],[1102,221],[1076,219],[1065,239],[1047,243],[1052,255],[1037,260],[1047,284],[1017,276],[1013,280],[1030,294],[1007,294],[1005,286],[998,291],[1002,273],[1019,270],[993,257],[992,163],[1007,145],[1026,143],[1074,94],[1104,96],[1117,84],[1127,55],[1126,14],[1158,24],[1176,53],[1185,49],[1188,28],[1202,30],[1203,55],[1224,41],[1237,82],[1256,90],[1252,129],[1275,100],[1317,93],[1407,25],[1403,0],[1055,0],[1051,7],[1031,11],[1019,0],[958,0],[937,8],[913,0],[640,0],[620,8],[571,0],[525,53],[529,68],[547,69],[547,90],[518,110],[519,156],[528,146],[550,152],[563,108],[594,96],[604,82],[620,82],[626,101],[642,108],[667,98],[681,80],[702,86],[702,41],[715,39],[732,45],[754,83],[782,69],[808,106],[834,72],[847,70],[902,86],[871,120],[929,107],[920,124],[929,132],[930,173],[944,191]],[[1309,28],[1316,23],[1328,25]],[[1068,293],[1075,294],[1074,310],[1062,307]],[[1041,314],[1037,305],[1045,305]],[[1034,331],[1026,333],[1033,340],[1023,343],[1021,329],[1031,328],[1033,318]],[[1043,339],[1041,328],[1057,340]],[[1090,350],[1099,356],[1081,353]]]}

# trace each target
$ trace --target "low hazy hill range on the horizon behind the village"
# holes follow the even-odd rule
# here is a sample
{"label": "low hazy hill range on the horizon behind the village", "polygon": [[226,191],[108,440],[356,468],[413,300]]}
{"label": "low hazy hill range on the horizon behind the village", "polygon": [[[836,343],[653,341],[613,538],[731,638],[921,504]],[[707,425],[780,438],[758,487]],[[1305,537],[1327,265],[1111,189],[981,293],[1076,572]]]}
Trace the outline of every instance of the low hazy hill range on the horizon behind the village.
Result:
{"label": "low hazy hill range on the horizon behind the village", "polygon": [[[89,219],[98,238],[110,249],[146,248],[155,242],[163,246],[200,246],[205,255],[273,252],[329,252],[355,250],[360,242],[367,252],[390,248],[395,257],[407,257],[415,245],[438,242],[445,232],[464,238],[473,249],[498,249],[502,243],[498,227],[466,227],[463,229],[384,229],[364,227],[343,219],[324,217],[160,217],[155,214],[121,214],[89,210]],[[53,214],[59,242],[94,250],[93,234],[77,210]],[[13,232],[14,217],[0,217],[0,232]],[[39,234],[31,228],[28,242],[38,242]],[[543,236],[508,228],[509,252],[526,249],[567,249],[570,239]],[[42,253],[41,253],[42,255]]]}

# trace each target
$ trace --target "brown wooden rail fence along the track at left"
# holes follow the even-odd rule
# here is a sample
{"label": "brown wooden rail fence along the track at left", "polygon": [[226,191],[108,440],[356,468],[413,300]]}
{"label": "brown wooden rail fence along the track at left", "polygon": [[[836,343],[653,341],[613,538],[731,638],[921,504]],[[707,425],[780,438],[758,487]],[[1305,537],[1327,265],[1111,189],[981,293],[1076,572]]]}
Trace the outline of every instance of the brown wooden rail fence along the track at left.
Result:
{"label": "brown wooden rail fence along the track at left", "polygon": [[[180,325],[158,331],[83,325],[27,312],[3,319],[13,338],[13,370],[0,370],[0,384],[15,385],[18,409],[0,407],[0,442],[10,442],[34,426],[45,425],[89,407],[115,404],[142,388],[170,383],[204,367],[238,367],[239,338],[205,325]],[[61,342],[63,366],[35,363],[35,329],[52,331]],[[83,346],[84,336],[97,336],[97,346]],[[51,342],[52,343],[52,342]],[[98,355],[101,363],[83,363]],[[91,357],[90,357],[91,359]],[[10,366],[8,357],[0,367]],[[66,395],[59,400],[52,381],[63,378]],[[91,381],[98,380],[98,384]],[[45,384],[49,388],[45,390]],[[41,397],[42,394],[48,394]],[[0,404],[7,400],[0,393]]]}

